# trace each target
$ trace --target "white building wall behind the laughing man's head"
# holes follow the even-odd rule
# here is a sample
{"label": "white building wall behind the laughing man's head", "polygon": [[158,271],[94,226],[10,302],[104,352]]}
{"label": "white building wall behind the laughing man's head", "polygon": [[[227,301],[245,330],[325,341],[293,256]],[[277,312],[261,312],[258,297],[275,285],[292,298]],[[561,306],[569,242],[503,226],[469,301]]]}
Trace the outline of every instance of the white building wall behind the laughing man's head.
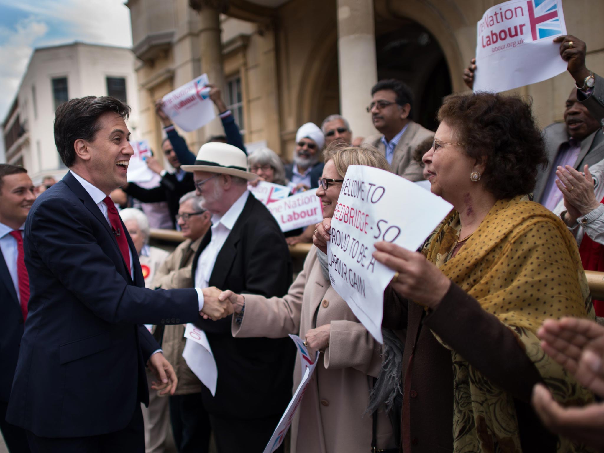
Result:
{"label": "white building wall behind the laughing man's head", "polygon": [[66,77],[71,99],[105,96],[108,94],[106,77],[124,77],[126,100],[132,107],[127,124],[132,129],[138,123],[134,64],[135,56],[127,48],[74,43],[34,51],[17,95],[21,122],[25,123],[29,136],[22,148],[23,164],[34,184],[39,184],[45,175],[53,175],[58,180],[66,172],[54,145],[52,80]]}

